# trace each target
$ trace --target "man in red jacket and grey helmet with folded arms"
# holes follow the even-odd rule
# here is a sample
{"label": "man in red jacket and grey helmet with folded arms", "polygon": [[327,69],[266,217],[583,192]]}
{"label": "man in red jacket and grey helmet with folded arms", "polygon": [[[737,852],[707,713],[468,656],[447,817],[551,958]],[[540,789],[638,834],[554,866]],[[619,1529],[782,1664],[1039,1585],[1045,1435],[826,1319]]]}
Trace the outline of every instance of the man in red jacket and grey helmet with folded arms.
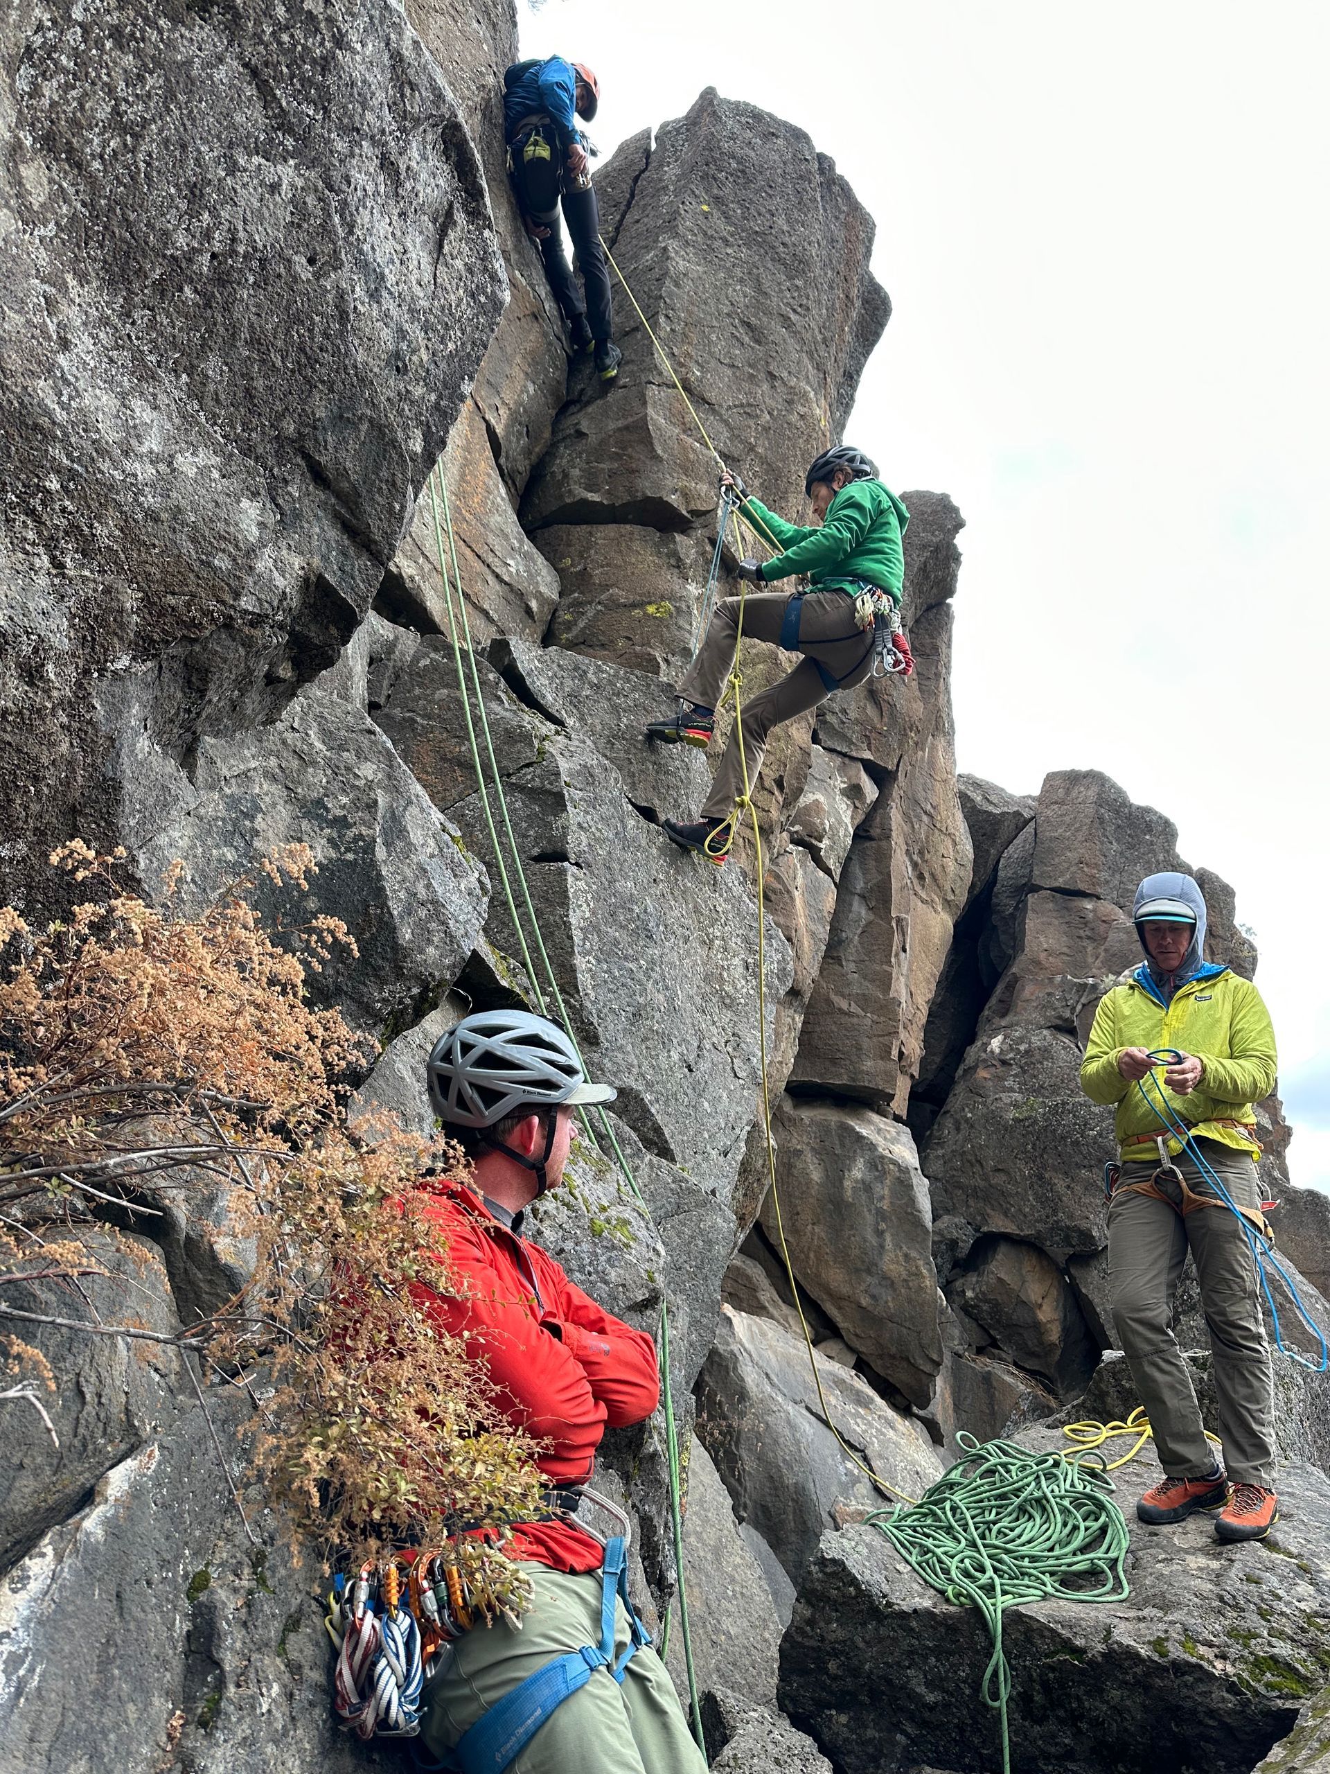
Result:
{"label": "man in red jacket and grey helmet with folded arms", "polygon": [[[575,1286],[521,1226],[562,1178],[573,1111],[615,1091],[589,1084],[567,1034],[530,1011],[463,1018],[427,1070],[434,1112],[472,1158],[466,1183],[422,1180],[424,1212],[465,1291],[413,1291],[484,1359],[509,1421],[544,1442],[539,1467],[560,1494],[552,1503],[571,1510],[606,1426],[656,1409],[656,1348]],[[422,1696],[426,1747],[465,1774],[704,1774],[674,1684],[624,1605],[626,1586],[615,1597],[603,1581],[601,1543],[564,1515],[516,1526],[507,1550],[532,1581],[532,1605],[520,1632],[500,1621],[458,1641]],[[610,1604],[612,1659],[585,1675],[578,1653],[594,1660],[592,1648],[606,1644]],[[548,1705],[537,1678],[569,1653],[582,1685]]]}

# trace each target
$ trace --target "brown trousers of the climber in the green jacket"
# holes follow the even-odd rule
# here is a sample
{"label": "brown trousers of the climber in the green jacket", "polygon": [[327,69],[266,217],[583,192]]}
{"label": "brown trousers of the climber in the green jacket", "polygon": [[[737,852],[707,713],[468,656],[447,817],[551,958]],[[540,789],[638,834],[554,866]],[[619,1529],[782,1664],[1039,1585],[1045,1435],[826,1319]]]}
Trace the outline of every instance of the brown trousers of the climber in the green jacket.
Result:
{"label": "brown trousers of the climber in the green jacket", "polygon": [[[794,671],[773,683],[770,690],[759,690],[752,699],[743,697],[743,761],[748,765],[750,786],[757,782],[763,768],[771,727],[816,708],[832,690],[851,690],[857,683],[864,683],[872,671],[872,630],[855,626],[855,600],[848,593],[805,593],[798,612],[798,632],[794,635],[786,632],[782,637],[793,596],[798,594],[771,591],[755,593],[743,600],[722,598],[711,616],[700,651],[679,685],[679,695],[688,697],[690,703],[702,703],[704,708],[715,708],[720,703],[734,662],[739,608],[743,608],[745,635],[754,640],[771,640],[777,646],[793,646],[803,655]],[[828,685],[823,679],[819,665],[830,672],[835,683]],[[741,793],[739,742],[738,734],[731,733],[720,770],[711,784],[711,795],[702,807],[702,818],[724,820]]]}

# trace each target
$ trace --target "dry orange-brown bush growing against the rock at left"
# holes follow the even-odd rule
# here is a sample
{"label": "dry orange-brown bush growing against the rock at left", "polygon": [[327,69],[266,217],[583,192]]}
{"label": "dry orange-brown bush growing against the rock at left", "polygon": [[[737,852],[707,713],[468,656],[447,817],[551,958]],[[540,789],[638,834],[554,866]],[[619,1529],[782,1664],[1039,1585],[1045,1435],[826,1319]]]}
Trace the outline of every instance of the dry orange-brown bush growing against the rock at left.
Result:
{"label": "dry orange-brown bush growing against the rock at left", "polygon": [[[85,894],[66,922],[32,930],[0,910],[0,1401],[43,1409],[59,1384],[23,1341],[34,1318],[161,1341],[129,1297],[119,1325],[78,1316],[80,1276],[98,1272],[80,1224],[128,1215],[151,1235],[153,1201],[215,1213],[223,1190],[252,1279],[174,1341],[204,1409],[207,1384],[248,1387],[252,1458],[296,1529],[371,1558],[539,1513],[534,1446],[493,1428],[484,1366],[406,1291],[417,1276],[447,1288],[411,1185],[465,1160],[443,1141],[348,1128],[348,1080],[371,1056],[305,995],[333,944],[355,947],[348,933],[323,917],[268,933],[252,882],[186,915],[179,871],[149,905],[122,889],[121,860],[82,843],[53,853]],[[301,846],[262,864],[291,891],[310,867]],[[18,1281],[51,1311],[5,1304]],[[477,1600],[521,1605],[502,1556],[468,1543],[465,1558]]]}

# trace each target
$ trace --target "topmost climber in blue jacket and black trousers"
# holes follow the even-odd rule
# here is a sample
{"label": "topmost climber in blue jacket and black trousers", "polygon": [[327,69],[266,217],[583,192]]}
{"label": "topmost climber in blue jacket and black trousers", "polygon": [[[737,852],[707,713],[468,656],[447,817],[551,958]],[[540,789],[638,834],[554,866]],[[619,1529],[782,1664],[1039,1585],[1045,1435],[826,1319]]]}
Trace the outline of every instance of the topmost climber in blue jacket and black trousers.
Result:
{"label": "topmost climber in blue jacket and black trousers", "polygon": [[[573,349],[594,349],[596,369],[608,381],[619,373],[622,353],[614,342],[610,273],[587,142],[576,126],[576,117],[591,122],[598,103],[599,83],[585,62],[550,55],[543,62],[514,62],[504,73],[504,140],[521,220],[539,241],[544,275],[573,334]],[[585,296],[564,254],[560,204]]]}

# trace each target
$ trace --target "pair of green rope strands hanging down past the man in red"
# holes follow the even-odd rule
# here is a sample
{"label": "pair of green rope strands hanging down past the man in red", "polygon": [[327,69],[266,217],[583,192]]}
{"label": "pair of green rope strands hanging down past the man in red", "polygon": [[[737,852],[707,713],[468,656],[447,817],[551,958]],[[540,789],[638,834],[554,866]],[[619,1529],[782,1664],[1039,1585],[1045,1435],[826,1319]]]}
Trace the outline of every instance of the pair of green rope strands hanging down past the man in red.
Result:
{"label": "pair of green rope strands hanging down past the man in red", "polygon": [[[498,867],[498,880],[504,891],[504,903],[507,905],[509,919],[512,921],[512,930],[521,949],[521,958],[527,969],[527,979],[530,981],[532,995],[536,1006],[543,1017],[552,1017],[559,1020],[564,1029],[569,1031],[575,1052],[582,1063],[583,1075],[591,1077],[585,1063],[582,1061],[582,1052],[576,1045],[576,1038],[571,1036],[571,1018],[567,1015],[567,1006],[564,1004],[564,995],[559,988],[559,977],[550,962],[548,949],[544,946],[544,937],[541,935],[541,922],[536,915],[536,907],[532,903],[530,887],[527,883],[527,873],[521,866],[521,852],[518,850],[518,841],[512,832],[512,821],[507,809],[507,797],[504,793],[504,777],[498,768],[498,759],[495,756],[495,743],[489,733],[489,717],[484,706],[484,694],[481,690],[481,671],[475,660],[475,648],[472,646],[472,624],[466,612],[466,596],[461,584],[461,568],[458,566],[458,541],[452,529],[452,511],[449,506],[447,481],[443,479],[443,470],[436,463],[429,475],[429,504],[433,514],[434,529],[434,548],[438,555],[438,571],[443,589],[449,639],[452,642],[452,660],[458,672],[458,690],[461,695],[463,715],[466,722],[466,740],[472,752],[472,768],[475,770],[475,784],[481,795],[481,807],[484,812],[484,823],[489,834],[489,844],[493,850],[495,864]],[[445,550],[447,534],[447,550]],[[449,571],[450,568],[450,571]],[[468,683],[470,676],[470,683]],[[481,761],[481,738],[477,738],[477,717],[481,738],[484,742],[484,756],[488,759],[489,784],[486,782],[486,768]],[[493,786],[493,800],[489,793]],[[498,827],[495,823],[495,804],[498,809],[498,820],[504,828],[505,846],[500,843]],[[511,864],[511,867],[509,867]],[[516,894],[514,894],[516,883]],[[527,928],[518,914],[518,894],[521,898],[527,926],[530,928],[530,940],[527,937]],[[544,985],[541,983],[541,972],[537,972],[536,960],[532,958],[532,947],[541,960],[541,970]],[[548,988],[548,997],[546,997]],[[552,1006],[557,1009],[557,1018]],[[631,1166],[624,1157],[619,1137],[614,1132],[614,1123],[603,1107],[594,1107],[591,1112],[580,1111],[582,1125],[587,1139],[598,1150],[608,1146],[614,1155],[619,1173],[624,1178],[633,1199],[642,1208],[642,1212],[651,1219],[651,1208],[633,1176]],[[592,1119],[594,1118],[594,1119]],[[697,1675],[693,1668],[693,1646],[692,1630],[688,1621],[688,1593],[685,1588],[685,1570],[683,1570],[683,1503],[681,1503],[681,1467],[679,1467],[679,1435],[674,1421],[674,1387],[672,1387],[672,1370],[670,1370],[670,1315],[669,1302],[661,1293],[660,1302],[660,1338],[658,1338],[658,1361],[660,1361],[660,1391],[661,1405],[665,1412],[665,1465],[669,1474],[669,1499],[670,1499],[670,1538],[674,1550],[674,1577],[679,1600],[679,1634],[683,1639],[683,1660],[688,1678],[688,1703],[690,1703],[690,1723],[693,1737],[697,1739],[699,1749],[706,1754],[706,1740],[702,1735],[702,1708],[697,1692]],[[669,1644],[670,1613],[665,1614],[665,1627],[661,1630],[661,1655]]]}

